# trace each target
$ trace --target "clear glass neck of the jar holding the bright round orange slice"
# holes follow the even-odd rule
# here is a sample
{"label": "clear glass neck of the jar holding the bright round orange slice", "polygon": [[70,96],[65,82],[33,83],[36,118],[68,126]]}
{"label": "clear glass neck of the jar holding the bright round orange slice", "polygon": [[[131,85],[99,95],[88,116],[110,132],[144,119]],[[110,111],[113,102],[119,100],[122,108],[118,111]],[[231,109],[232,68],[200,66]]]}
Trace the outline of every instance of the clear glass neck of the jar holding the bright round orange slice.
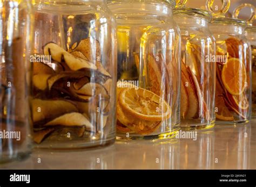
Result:
{"label": "clear glass neck of the jar holding the bright round orange slice", "polygon": [[219,23],[212,23],[209,26],[211,32],[213,34],[220,33],[220,34],[233,34],[233,35],[244,35],[245,27],[239,25],[227,25],[227,24],[219,24]]}

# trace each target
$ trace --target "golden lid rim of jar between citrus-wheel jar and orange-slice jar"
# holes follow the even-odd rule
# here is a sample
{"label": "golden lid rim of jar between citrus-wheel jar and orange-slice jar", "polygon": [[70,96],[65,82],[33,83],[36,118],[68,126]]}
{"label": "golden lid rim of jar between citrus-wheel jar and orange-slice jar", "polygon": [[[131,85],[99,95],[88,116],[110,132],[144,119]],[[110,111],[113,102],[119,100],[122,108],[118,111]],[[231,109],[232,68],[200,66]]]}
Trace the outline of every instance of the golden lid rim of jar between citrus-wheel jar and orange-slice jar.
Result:
{"label": "golden lid rim of jar between citrus-wheel jar and orange-slice jar", "polygon": [[184,14],[188,16],[194,16],[198,18],[203,18],[207,21],[212,20],[212,15],[210,12],[203,9],[193,9],[193,8],[176,8],[173,10],[173,15],[175,14]]}

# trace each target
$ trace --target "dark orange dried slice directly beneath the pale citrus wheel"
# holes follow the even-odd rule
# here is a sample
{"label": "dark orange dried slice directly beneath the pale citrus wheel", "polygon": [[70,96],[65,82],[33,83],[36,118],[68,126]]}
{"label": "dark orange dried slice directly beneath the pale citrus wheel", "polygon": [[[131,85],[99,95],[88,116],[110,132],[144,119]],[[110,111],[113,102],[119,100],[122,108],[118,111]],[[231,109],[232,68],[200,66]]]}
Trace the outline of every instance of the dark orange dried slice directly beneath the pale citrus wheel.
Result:
{"label": "dark orange dried slice directly beneath the pale citrus wheel", "polygon": [[117,103],[117,119],[121,124],[128,127],[130,130],[138,134],[151,134],[156,131],[161,122],[160,121],[147,121],[136,118],[130,114],[124,113],[122,106]]}

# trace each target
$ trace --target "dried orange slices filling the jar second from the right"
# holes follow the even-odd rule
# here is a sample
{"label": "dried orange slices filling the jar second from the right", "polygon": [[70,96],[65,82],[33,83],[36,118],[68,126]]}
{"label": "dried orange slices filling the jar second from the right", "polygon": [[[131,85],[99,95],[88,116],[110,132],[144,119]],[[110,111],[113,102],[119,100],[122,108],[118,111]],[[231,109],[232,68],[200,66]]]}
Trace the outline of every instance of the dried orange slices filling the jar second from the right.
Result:
{"label": "dried orange slices filling the jar second from the right", "polygon": [[217,63],[217,121],[244,122],[249,118],[251,77],[247,49],[248,45],[235,37],[217,42],[217,54],[227,56],[224,63]]}

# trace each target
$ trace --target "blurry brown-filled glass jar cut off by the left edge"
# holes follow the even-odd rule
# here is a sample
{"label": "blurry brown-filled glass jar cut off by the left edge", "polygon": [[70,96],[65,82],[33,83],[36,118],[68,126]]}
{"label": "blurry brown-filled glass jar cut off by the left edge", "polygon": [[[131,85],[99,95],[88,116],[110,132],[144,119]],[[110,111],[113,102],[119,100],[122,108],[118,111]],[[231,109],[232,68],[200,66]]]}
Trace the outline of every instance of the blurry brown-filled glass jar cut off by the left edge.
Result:
{"label": "blurry brown-filled glass jar cut off by the left edge", "polygon": [[33,16],[30,1],[1,1],[0,162],[31,152],[30,73]]}

